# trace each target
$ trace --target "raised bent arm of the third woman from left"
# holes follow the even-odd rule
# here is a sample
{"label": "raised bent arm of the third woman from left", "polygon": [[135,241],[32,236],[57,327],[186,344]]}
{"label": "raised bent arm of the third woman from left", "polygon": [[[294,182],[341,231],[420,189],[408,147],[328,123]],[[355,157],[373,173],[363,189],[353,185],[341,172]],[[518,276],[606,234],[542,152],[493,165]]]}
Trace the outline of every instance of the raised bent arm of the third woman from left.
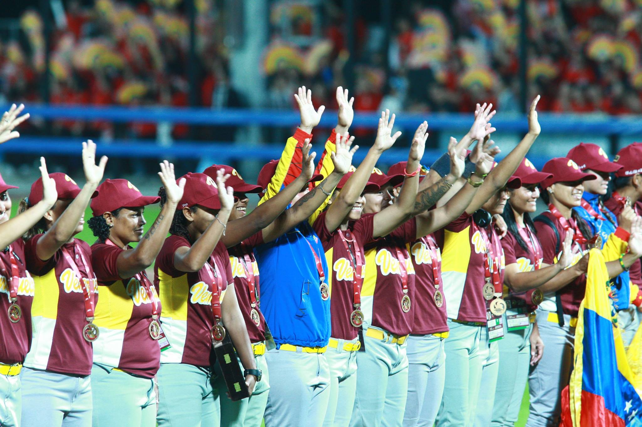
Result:
{"label": "raised bent arm of the third woman from left", "polygon": [[162,248],[162,244],[169,232],[171,220],[174,218],[176,207],[183,197],[185,179],[176,182],[174,165],[164,160],[160,163],[160,181],[165,187],[167,202],[160,209],[159,216],[143,239],[132,250],[123,250],[116,259],[118,275],[123,278],[133,277],[152,265]]}

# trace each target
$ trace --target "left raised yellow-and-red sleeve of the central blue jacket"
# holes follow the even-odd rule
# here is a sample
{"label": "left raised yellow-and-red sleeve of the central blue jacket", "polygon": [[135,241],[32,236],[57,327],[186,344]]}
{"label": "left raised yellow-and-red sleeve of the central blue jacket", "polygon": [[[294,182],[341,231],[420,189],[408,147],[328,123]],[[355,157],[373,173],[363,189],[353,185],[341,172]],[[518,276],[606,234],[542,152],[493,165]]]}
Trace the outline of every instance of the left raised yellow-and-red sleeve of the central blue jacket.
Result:
{"label": "left raised yellow-and-red sleeve of the central blue jacket", "polygon": [[306,138],[311,140],[312,134],[304,132],[298,127],[294,135],[288,138],[272,180],[270,184],[268,184],[265,194],[261,200],[259,200],[259,205],[277,195],[283,186],[287,186],[300,175],[301,161],[303,158],[301,149]]}

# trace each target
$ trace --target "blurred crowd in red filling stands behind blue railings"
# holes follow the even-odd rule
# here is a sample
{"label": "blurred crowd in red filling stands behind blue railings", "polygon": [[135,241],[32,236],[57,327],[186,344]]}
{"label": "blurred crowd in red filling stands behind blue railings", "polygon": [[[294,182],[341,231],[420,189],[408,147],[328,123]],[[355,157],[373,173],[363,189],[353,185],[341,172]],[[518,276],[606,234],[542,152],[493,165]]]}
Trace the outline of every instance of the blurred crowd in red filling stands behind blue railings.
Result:
{"label": "blurred crowd in red filling stands behind blue railings", "polygon": [[[247,106],[229,76],[225,7],[195,0],[198,104]],[[302,82],[315,103],[333,108],[331,88],[353,83],[357,111],[469,111],[490,100],[519,111],[519,0],[392,2],[390,37],[377,1],[357,1],[355,55],[348,54],[343,1],[270,3],[270,40],[259,66],[263,107],[295,108]],[[187,106],[186,5],[65,1],[51,36],[51,102]],[[540,111],[642,113],[642,0],[526,0],[528,96]],[[0,93],[11,102],[41,101],[44,26],[35,10],[20,36],[0,41]],[[257,58],[258,59],[258,58]],[[354,78],[346,79],[347,72]],[[34,122],[32,125],[37,125]],[[156,124],[55,122],[56,134],[155,138]],[[174,125],[173,138],[187,127]],[[211,135],[204,134],[204,138]]]}

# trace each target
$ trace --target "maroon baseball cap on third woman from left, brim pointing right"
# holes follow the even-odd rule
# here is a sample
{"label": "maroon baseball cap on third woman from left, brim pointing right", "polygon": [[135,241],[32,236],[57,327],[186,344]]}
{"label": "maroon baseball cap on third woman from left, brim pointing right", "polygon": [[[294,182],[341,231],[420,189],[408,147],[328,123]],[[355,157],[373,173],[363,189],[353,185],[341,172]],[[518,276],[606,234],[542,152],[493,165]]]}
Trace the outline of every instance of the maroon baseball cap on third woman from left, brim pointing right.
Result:
{"label": "maroon baseball cap on third woman from left, brim pointing right", "polygon": [[105,179],[98,186],[98,196],[89,205],[94,216],[116,211],[119,207],[141,207],[158,203],[158,196],[143,196],[134,184],[126,179]]}

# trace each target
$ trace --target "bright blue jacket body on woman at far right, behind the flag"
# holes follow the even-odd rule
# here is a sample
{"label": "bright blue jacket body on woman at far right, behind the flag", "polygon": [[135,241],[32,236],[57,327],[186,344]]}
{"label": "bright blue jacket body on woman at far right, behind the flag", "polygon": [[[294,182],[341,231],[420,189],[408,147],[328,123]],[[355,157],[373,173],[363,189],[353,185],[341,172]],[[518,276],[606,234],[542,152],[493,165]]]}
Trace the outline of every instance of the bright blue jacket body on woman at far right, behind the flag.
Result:
{"label": "bright blue jacket body on woman at far right, behind the flag", "polygon": [[[600,233],[600,236],[602,236],[603,246],[604,243],[606,243],[607,239],[609,239],[609,236],[611,236],[611,234],[615,232],[615,229],[618,225],[618,218],[616,218],[616,216],[605,206],[603,206],[602,211],[600,211],[599,195],[587,193],[586,191],[584,191],[584,195],[582,195],[582,198],[584,198],[584,200],[586,200],[589,205],[593,207],[594,211],[601,214],[602,216],[609,216],[615,223],[615,225],[613,225],[607,218],[605,218],[605,220],[595,218],[594,216],[589,214],[588,211],[582,206],[573,208],[580,215],[580,217],[589,224],[589,227],[591,227],[591,231],[593,232],[593,234]],[[618,277],[614,277],[611,279],[613,305],[618,311],[629,308],[629,281],[629,271],[624,271],[623,273],[620,273]]]}

